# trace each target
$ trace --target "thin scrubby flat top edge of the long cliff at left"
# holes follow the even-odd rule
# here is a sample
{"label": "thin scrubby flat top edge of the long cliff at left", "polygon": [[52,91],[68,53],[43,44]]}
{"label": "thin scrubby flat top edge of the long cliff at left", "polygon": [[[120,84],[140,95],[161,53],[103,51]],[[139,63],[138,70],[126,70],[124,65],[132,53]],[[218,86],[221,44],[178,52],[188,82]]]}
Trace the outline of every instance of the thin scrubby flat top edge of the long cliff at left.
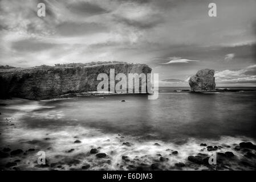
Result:
{"label": "thin scrubby flat top edge of the long cliff at left", "polygon": [[133,63],[106,63],[106,64],[96,64],[96,65],[88,65],[88,66],[77,66],[77,67],[58,67],[58,66],[39,66],[39,67],[29,67],[29,68],[10,68],[10,69],[0,69],[0,73],[11,73],[11,72],[33,72],[38,70],[54,70],[54,69],[76,69],[76,68],[96,68],[103,67],[105,65],[134,65],[137,67],[148,67],[147,64],[133,64]]}

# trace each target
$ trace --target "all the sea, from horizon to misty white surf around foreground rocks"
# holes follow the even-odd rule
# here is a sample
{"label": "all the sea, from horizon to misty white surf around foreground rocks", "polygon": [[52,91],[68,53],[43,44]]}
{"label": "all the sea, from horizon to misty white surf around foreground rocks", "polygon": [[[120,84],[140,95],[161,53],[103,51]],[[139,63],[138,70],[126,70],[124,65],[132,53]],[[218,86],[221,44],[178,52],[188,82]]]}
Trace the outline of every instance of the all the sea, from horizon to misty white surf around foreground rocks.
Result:
{"label": "all the sea, from horizon to misty white surf around foreground rocks", "polygon": [[[189,155],[204,151],[200,143],[231,146],[220,152],[232,151],[243,158],[232,147],[242,141],[255,143],[254,88],[210,94],[181,91],[187,89],[160,88],[157,100],[148,100],[146,94],[1,100],[7,104],[0,107],[2,148],[46,151],[47,159],[61,164],[60,169],[81,169],[90,164],[92,170],[125,170],[139,163],[151,165],[159,154],[168,156],[162,169],[174,169],[175,163],[186,163]],[[77,139],[81,143],[74,143]],[[91,148],[98,148],[108,158],[96,159]],[[68,152],[70,149],[74,151]],[[128,156],[131,163],[123,162],[122,156]],[[35,164],[36,152],[22,159],[20,168],[40,169]],[[79,163],[72,163],[73,159]]]}

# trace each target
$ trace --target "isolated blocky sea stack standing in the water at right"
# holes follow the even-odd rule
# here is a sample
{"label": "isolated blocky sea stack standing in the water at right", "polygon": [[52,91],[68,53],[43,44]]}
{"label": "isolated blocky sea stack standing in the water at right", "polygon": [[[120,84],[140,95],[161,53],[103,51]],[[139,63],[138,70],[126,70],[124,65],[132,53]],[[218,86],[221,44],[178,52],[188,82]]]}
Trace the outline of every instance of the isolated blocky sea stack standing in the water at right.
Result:
{"label": "isolated blocky sea stack standing in the water at right", "polygon": [[189,85],[192,92],[215,91],[215,77],[213,69],[201,69],[190,77]]}

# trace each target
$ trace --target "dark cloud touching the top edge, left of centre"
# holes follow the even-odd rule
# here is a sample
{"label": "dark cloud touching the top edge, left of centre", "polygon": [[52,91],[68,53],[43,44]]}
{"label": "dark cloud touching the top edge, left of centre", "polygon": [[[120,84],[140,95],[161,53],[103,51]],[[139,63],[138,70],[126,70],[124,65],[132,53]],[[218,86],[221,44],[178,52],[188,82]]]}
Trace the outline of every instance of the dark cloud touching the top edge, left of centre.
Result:
{"label": "dark cloud touching the top edge, left of centre", "polygon": [[109,10],[104,9],[100,5],[97,5],[95,3],[90,3],[90,2],[75,2],[72,4],[68,4],[67,8],[72,13],[79,14],[79,15],[86,15],[86,16],[99,15],[99,14],[109,12]]}

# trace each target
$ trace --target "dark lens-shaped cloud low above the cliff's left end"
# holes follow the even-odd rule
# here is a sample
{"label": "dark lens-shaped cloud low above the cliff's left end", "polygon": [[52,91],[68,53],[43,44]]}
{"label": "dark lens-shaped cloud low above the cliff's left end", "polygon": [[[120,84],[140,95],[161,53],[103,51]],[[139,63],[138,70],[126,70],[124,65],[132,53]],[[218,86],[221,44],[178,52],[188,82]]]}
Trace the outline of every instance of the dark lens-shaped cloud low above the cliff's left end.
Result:
{"label": "dark lens-shaped cloud low above the cliff's left end", "polygon": [[21,52],[42,51],[46,49],[51,49],[56,46],[58,45],[53,43],[40,42],[40,40],[36,40],[36,39],[25,39],[25,40],[19,40],[17,42],[12,43],[12,48],[15,51],[21,51]]}

